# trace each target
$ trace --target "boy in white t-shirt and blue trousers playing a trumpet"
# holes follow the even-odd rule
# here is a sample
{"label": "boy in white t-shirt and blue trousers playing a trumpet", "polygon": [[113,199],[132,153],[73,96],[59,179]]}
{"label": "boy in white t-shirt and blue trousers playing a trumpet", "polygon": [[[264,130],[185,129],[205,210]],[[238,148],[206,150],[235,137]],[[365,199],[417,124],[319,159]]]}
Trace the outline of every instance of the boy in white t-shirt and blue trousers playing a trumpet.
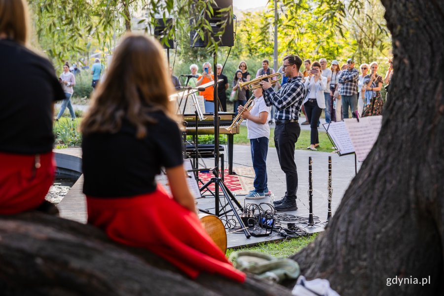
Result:
{"label": "boy in white t-shirt and blue trousers playing a trumpet", "polygon": [[[263,198],[269,195],[267,186],[267,153],[268,153],[268,139],[270,137],[270,127],[268,121],[270,120],[271,107],[265,105],[262,97],[262,88],[253,90],[255,96],[255,105],[250,112],[245,111],[242,117],[247,119],[248,139],[251,144],[251,158],[253,160],[253,168],[255,170],[255,189],[251,190],[245,196],[247,199]],[[243,110],[243,106],[239,106],[238,112]]]}

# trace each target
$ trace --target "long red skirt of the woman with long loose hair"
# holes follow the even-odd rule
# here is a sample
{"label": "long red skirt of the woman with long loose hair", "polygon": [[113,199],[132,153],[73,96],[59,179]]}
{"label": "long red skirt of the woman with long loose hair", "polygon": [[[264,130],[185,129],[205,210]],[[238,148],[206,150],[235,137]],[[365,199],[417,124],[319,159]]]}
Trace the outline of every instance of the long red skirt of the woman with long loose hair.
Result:
{"label": "long red skirt of the woman with long loose hair", "polygon": [[156,191],[128,198],[86,196],[88,223],[125,245],[142,247],[170,261],[195,279],[217,273],[238,282],[235,269],[205,232],[197,216],[178,204],[161,185]]}

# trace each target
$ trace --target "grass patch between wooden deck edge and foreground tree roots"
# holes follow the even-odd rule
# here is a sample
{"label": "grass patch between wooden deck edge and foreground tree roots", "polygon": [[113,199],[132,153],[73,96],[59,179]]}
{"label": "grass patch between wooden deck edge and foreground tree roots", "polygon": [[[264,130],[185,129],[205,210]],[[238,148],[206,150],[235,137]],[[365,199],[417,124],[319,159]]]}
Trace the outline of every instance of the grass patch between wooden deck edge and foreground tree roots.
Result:
{"label": "grass patch between wooden deck edge and foreground tree roots", "polygon": [[289,257],[299,252],[301,249],[305,248],[317,236],[318,233],[315,233],[309,236],[287,239],[280,242],[259,243],[254,247],[247,247],[236,250],[228,249],[226,251],[226,256],[230,256],[230,254],[234,251],[253,251],[265,253],[274,257]]}

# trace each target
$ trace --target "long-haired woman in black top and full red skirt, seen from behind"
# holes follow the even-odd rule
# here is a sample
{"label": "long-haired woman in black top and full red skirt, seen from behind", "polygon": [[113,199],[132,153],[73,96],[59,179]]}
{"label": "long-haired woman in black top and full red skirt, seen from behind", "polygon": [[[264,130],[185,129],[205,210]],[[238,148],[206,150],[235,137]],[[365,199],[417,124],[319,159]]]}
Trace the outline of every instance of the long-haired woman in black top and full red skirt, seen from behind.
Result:
{"label": "long-haired woman in black top and full red skirt, seen from behind", "polygon": [[[191,278],[205,272],[243,282],[197,218],[169,101],[173,91],[160,43],[126,35],[81,124],[88,223]],[[161,167],[171,196],[154,180]]]}

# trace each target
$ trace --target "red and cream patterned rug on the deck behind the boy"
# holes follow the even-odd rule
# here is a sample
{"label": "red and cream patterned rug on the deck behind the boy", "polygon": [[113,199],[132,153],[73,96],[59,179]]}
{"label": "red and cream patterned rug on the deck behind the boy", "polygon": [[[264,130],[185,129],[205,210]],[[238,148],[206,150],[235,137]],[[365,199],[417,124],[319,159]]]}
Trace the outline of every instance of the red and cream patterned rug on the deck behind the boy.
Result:
{"label": "red and cream patterned rug on the deck behind the boy", "polygon": [[[250,190],[255,188],[253,186],[255,171],[252,167],[233,167],[233,171],[236,172],[237,175],[228,175],[228,169],[225,169],[223,177],[225,185],[231,192],[236,193],[236,195],[246,195]],[[213,178],[213,176],[213,173],[199,173],[199,178],[204,184]],[[199,184],[199,186],[202,185]],[[214,191],[214,184],[211,184],[208,188]]]}

